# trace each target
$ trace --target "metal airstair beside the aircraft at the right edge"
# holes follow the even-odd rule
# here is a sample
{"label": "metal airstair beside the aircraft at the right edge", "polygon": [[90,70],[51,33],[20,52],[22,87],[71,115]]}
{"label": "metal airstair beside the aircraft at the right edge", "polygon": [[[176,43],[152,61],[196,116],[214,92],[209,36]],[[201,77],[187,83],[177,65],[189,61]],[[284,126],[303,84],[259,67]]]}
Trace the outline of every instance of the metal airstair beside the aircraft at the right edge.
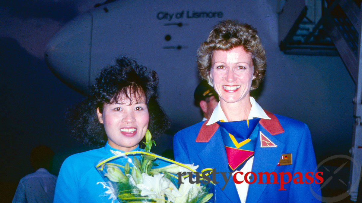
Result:
{"label": "metal airstair beside the aircraft at the right edge", "polygon": [[[340,56],[355,83],[348,193],[357,201],[362,163],[361,0],[279,0],[279,48],[285,54]],[[352,115],[351,115],[352,116]],[[359,200],[361,201],[361,200]],[[322,202],[328,202],[323,199]]]}

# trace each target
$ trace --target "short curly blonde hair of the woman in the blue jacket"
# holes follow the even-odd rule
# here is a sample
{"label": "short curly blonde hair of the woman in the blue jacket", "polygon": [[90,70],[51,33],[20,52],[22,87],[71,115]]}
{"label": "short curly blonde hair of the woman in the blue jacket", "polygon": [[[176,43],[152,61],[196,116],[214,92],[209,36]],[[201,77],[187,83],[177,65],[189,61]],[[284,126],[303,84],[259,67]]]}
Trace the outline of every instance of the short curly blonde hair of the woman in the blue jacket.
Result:
{"label": "short curly blonde hair of the woman in the blue jacket", "polygon": [[215,50],[228,51],[235,47],[243,47],[252,56],[255,78],[251,90],[256,89],[264,77],[266,68],[265,49],[256,33],[254,27],[237,20],[225,20],[215,25],[207,40],[197,50],[197,67],[201,77],[212,86],[210,71]]}

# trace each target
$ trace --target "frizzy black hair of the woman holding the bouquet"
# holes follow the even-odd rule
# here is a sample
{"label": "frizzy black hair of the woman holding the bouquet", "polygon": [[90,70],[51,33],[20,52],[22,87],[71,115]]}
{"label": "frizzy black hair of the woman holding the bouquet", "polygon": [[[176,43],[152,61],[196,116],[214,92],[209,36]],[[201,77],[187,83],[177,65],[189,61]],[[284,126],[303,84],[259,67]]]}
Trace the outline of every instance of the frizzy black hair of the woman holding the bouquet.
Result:
{"label": "frizzy black hair of the woman holding the bouquet", "polygon": [[103,124],[98,121],[104,104],[117,103],[121,95],[132,102],[132,95],[145,95],[150,121],[148,129],[152,137],[163,134],[170,122],[157,102],[157,73],[137,64],[134,59],[120,57],[116,64],[101,71],[88,97],[67,112],[67,124],[71,136],[88,146],[104,146],[107,135]]}

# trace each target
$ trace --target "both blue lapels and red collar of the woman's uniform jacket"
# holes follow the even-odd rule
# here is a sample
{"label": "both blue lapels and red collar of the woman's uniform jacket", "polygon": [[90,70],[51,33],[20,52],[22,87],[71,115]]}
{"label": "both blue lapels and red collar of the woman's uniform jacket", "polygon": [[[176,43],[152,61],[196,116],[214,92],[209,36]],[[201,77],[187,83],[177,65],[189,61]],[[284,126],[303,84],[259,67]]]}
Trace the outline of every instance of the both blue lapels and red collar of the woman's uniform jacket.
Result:
{"label": "both blue lapels and red collar of the woman's uniform jacket", "polygon": [[[265,110],[264,110],[265,111]],[[279,159],[282,155],[284,143],[280,142],[273,135],[284,133],[284,129],[278,121],[278,118],[268,111],[265,111],[266,115],[270,117],[270,120],[261,119],[259,122],[259,133],[256,141],[255,151],[254,151],[254,161],[252,166],[252,171],[254,173],[258,172],[273,172],[275,167],[279,162]],[[204,168],[215,168],[216,172],[229,172],[228,161],[226,156],[226,151],[224,148],[223,140],[219,125],[214,123],[212,125],[206,125],[208,122],[205,121],[199,131],[199,134],[196,138],[196,142],[208,142],[207,145],[199,152],[198,156],[201,162],[204,164]],[[261,145],[261,134],[262,133],[267,139],[276,145],[276,147],[265,147]],[[215,156],[215,153],[217,155]],[[228,177],[228,173],[227,173]],[[225,185],[224,178],[221,174],[216,175],[216,180],[219,181],[216,184],[216,187],[219,187],[220,190]],[[257,202],[263,193],[266,184],[258,184],[259,179],[257,178],[254,184],[249,185],[248,195],[246,202],[254,203]],[[230,177],[229,182],[227,183],[224,190],[221,190],[227,198],[232,202],[240,202],[239,195],[236,190],[235,183]]]}

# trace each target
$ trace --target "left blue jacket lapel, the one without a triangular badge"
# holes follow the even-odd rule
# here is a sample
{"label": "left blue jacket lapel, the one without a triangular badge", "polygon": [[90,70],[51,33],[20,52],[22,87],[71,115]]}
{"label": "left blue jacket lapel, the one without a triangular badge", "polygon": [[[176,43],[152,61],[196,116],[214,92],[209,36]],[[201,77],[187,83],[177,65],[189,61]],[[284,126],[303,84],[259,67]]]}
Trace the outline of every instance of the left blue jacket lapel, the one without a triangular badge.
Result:
{"label": "left blue jacket lapel, the one without a triangular badge", "polygon": [[[206,168],[214,168],[216,172],[227,172],[226,176],[229,177],[230,170],[228,168],[228,161],[226,156],[225,147],[221,137],[220,129],[217,129],[214,135],[210,138],[210,141],[206,144],[202,151],[198,154],[199,159]],[[225,185],[222,174],[216,174],[216,181],[219,183],[215,187],[219,187],[222,193],[232,203],[240,202],[239,195],[237,194],[235,183],[233,182],[232,176],[230,177],[224,190],[222,187]]]}

